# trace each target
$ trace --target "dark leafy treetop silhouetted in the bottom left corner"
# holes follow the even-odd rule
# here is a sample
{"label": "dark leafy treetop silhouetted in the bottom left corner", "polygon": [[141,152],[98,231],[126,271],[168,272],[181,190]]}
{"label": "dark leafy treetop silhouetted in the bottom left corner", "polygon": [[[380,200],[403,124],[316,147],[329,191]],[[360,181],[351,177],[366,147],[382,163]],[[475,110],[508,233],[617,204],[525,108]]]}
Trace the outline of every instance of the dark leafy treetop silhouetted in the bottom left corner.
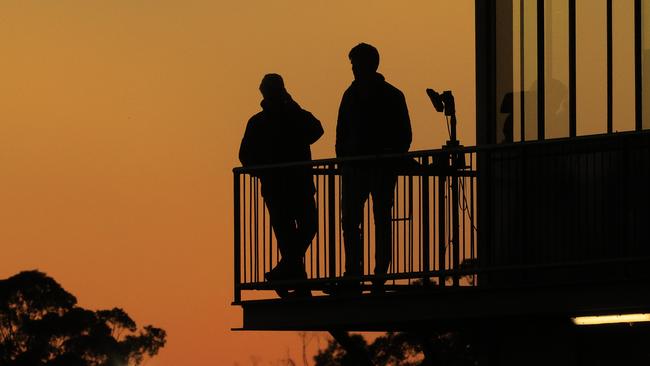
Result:
{"label": "dark leafy treetop silhouetted in the bottom left corner", "polygon": [[139,365],[165,345],[163,329],[138,330],[122,309],[91,311],[76,304],[39,271],[0,280],[0,365]]}

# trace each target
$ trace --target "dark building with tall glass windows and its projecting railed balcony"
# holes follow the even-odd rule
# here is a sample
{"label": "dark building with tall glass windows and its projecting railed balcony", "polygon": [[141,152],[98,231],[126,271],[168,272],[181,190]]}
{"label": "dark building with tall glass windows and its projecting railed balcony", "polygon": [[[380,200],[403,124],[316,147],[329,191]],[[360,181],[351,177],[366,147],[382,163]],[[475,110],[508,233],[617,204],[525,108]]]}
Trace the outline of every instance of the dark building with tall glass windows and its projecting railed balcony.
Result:
{"label": "dark building with tall glass windows and its projecting railed balcony", "polygon": [[309,298],[279,299],[264,281],[277,247],[255,170],[234,170],[242,329],[330,331],[343,343],[347,331],[462,330],[483,340],[486,365],[650,362],[648,323],[574,320],[650,313],[650,4],[475,9],[477,146],[450,138],[404,156],[387,292],[320,292],[343,274],[340,160],[309,163],[319,208],[304,283],[319,296]]}

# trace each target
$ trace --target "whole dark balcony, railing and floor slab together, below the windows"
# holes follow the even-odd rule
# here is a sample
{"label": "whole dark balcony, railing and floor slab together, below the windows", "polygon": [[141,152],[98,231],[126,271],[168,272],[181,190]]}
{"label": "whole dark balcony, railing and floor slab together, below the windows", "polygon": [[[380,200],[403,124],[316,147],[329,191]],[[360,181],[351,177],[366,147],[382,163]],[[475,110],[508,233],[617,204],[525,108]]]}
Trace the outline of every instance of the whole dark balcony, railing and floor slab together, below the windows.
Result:
{"label": "whole dark balcony, railing and floor slab together, below the windows", "polygon": [[[374,279],[372,200],[363,275],[343,278],[340,166],[399,161],[386,292]],[[279,259],[258,176],[309,166],[318,231],[304,281]],[[247,330],[405,330],[495,319],[650,311],[650,134],[632,132],[399,156],[234,169],[234,304]],[[329,295],[346,281],[362,294]],[[281,299],[279,286],[312,297]]]}

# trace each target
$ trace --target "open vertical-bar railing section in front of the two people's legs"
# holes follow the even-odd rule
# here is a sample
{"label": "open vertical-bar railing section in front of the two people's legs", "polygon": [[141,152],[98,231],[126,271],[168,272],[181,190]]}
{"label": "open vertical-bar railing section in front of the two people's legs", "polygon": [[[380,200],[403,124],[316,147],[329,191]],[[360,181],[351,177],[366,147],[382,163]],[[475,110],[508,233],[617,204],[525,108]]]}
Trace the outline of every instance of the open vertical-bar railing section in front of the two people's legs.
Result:
{"label": "open vertical-bar railing section in front of the two people's legs", "polygon": [[[234,172],[235,301],[242,290],[271,290],[264,273],[277,265],[280,252],[257,177],[309,167],[316,187],[318,230],[305,255],[306,282],[318,290],[340,280],[345,250],[341,165],[391,164],[397,172],[392,207],[392,261],[382,276],[387,287],[437,284],[469,286],[476,277],[461,276],[474,265],[476,247],[476,159],[469,148],[442,149],[391,156],[315,160],[305,163],[236,168]],[[373,279],[374,220],[372,199],[364,207],[363,274]]]}

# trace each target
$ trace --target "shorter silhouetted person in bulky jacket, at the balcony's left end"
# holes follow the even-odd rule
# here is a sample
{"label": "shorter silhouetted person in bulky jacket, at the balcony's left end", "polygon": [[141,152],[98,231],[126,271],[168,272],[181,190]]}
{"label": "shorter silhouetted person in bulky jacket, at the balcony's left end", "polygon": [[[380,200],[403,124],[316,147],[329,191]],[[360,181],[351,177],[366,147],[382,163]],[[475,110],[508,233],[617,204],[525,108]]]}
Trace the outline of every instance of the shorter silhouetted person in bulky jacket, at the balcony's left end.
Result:
{"label": "shorter silhouetted person in bulky jacket, at the balcony's left end", "polygon": [[[262,111],[248,121],[239,149],[242,165],[311,160],[309,145],[323,135],[320,122],[291,98],[280,75],[265,75],[260,91]],[[306,278],[303,258],[318,226],[311,168],[274,168],[258,176],[282,256],[265,277]]]}

